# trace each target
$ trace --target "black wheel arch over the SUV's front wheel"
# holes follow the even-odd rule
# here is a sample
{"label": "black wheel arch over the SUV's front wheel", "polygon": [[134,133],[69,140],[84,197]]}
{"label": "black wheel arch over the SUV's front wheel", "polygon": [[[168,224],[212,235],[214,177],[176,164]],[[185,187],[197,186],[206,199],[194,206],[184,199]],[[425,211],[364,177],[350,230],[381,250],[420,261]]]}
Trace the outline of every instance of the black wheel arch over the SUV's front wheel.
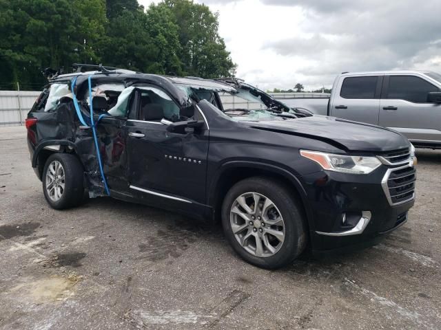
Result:
{"label": "black wheel arch over the SUV's front wheel", "polygon": [[311,208],[307,201],[307,192],[296,175],[285,168],[273,164],[251,161],[232,161],[221,166],[209,185],[208,205],[214,210],[214,221],[220,219],[220,208],[227,191],[238,181],[249,177],[270,177],[287,186],[295,197],[301,201],[300,206],[306,217],[305,225],[309,232],[312,218]]}

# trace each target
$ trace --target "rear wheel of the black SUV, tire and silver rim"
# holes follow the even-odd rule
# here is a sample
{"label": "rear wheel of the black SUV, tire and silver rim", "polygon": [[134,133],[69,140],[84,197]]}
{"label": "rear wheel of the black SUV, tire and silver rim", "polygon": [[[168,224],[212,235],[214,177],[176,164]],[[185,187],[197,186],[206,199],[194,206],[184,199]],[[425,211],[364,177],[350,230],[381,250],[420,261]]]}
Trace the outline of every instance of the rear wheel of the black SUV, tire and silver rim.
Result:
{"label": "rear wheel of the black SUV, tire and silver rim", "polygon": [[[52,177],[57,177],[57,180]],[[63,210],[78,206],[83,201],[83,178],[83,166],[76,156],[68,153],[50,155],[45,163],[41,178],[44,197],[50,207]]]}

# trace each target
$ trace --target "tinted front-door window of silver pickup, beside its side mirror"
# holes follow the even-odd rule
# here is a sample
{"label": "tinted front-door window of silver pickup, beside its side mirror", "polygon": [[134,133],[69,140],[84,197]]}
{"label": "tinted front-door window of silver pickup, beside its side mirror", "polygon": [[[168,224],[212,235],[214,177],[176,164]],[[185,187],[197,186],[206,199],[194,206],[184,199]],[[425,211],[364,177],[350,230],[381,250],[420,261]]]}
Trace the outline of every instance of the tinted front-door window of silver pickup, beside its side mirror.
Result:
{"label": "tinted front-door window of silver pickup, beside its side mirror", "polygon": [[426,103],[430,91],[440,91],[440,89],[416,76],[390,76],[386,98]]}

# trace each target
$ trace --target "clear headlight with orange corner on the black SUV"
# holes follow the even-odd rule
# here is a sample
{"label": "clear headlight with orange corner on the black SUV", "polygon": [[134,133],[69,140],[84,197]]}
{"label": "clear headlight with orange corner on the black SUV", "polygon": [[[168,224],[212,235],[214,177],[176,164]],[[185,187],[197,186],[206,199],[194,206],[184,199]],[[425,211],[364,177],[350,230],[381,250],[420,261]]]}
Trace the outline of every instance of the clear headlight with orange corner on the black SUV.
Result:
{"label": "clear headlight with orange corner on the black SUV", "polygon": [[369,174],[381,165],[377,157],[332,155],[318,151],[300,150],[300,155],[320,164],[324,170],[342,173]]}

